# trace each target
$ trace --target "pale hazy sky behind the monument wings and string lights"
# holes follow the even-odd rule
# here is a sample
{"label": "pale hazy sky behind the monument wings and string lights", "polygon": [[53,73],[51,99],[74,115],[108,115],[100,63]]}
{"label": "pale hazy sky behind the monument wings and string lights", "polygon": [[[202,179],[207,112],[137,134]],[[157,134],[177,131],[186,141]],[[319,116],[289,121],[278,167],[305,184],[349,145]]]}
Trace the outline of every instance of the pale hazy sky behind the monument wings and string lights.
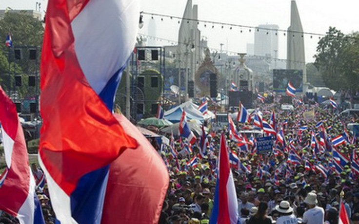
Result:
{"label": "pale hazy sky behind the monument wings and string lights", "polygon": [[[41,2],[41,11],[45,11],[47,0],[0,0],[0,9],[35,9],[36,2]],[[104,1],[105,2],[105,1]],[[199,5],[199,19],[217,22],[234,23],[239,25],[257,26],[259,24],[277,24],[279,29],[286,30],[290,25],[291,0],[193,0]],[[179,16],[183,14],[186,0],[142,0],[141,10],[148,13]],[[304,32],[325,34],[329,26],[335,26],[343,33],[359,31],[359,1],[358,0],[297,0],[300,19]],[[144,27],[140,33],[148,34],[149,16],[144,16]],[[156,36],[172,41],[177,40],[178,19],[154,17]],[[199,24],[202,36],[207,37],[209,47],[223,50],[245,52],[246,44],[254,42],[254,34],[248,29],[229,27],[221,29],[218,25],[212,29],[212,24]],[[306,61],[313,61],[318,36],[304,36]],[[160,45],[171,45],[168,41],[158,41]],[[286,57],[286,37],[279,34],[279,58]]]}

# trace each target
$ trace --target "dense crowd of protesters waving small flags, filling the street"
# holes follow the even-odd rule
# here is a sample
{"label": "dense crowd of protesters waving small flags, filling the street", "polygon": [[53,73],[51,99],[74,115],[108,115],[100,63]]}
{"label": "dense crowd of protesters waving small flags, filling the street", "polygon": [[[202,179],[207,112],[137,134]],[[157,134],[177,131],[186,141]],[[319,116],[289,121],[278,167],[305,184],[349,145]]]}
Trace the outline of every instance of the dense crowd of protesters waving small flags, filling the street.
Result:
{"label": "dense crowd of protesters waving small flags, filling the street", "polygon": [[[159,223],[209,223],[215,205],[220,133],[224,132],[229,152],[239,159],[231,160],[231,168],[241,224],[338,224],[341,202],[350,222],[359,224],[359,170],[354,167],[358,162],[358,141],[346,129],[348,123],[358,123],[358,117],[341,116],[338,110],[319,107],[314,101],[304,104],[296,100],[294,106],[294,110],[283,111],[276,100],[272,104],[258,103],[254,112],[260,113],[263,120],[276,126],[273,129],[278,133],[281,130],[284,136],[279,141],[278,134],[264,132],[273,136],[274,141],[273,150],[264,154],[256,147],[258,136],[243,135],[240,136],[243,141],[239,141],[228,127],[213,131],[211,123],[205,151],[200,149],[200,137],[198,143],[190,145],[180,136],[169,136],[170,146],[156,147],[170,175]],[[273,114],[276,121],[270,122]],[[254,129],[253,121],[244,124],[234,121],[237,130]],[[331,138],[338,135],[344,136],[345,142],[334,146]],[[333,150],[339,151],[347,164],[334,161]],[[299,160],[290,158],[292,151]],[[40,168],[33,164],[32,170],[40,181]],[[46,185],[37,194],[46,224],[55,223]],[[2,213],[1,223],[18,221]]]}

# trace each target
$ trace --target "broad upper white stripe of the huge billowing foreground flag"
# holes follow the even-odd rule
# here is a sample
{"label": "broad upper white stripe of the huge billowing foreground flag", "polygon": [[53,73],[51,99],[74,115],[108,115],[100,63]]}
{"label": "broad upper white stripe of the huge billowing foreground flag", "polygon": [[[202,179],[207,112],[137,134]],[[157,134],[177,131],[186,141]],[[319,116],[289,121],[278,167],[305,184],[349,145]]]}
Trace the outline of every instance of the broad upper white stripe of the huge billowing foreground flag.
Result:
{"label": "broad upper white stripe of the huge billowing foreground flag", "polygon": [[98,94],[133,51],[140,15],[128,15],[140,11],[138,2],[91,0],[71,22],[82,72]]}

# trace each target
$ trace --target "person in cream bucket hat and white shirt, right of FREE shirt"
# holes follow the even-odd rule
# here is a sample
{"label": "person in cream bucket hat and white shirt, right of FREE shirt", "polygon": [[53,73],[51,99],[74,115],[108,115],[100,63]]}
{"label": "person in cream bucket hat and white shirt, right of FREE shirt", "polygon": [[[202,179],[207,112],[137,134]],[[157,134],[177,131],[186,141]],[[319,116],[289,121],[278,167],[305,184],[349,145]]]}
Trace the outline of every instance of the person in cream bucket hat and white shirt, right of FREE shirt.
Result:
{"label": "person in cream bucket hat and white shirt, right of FREE shirt", "polygon": [[309,192],[304,199],[305,204],[309,209],[304,212],[303,223],[304,224],[322,224],[324,223],[324,209],[317,206],[317,194]]}

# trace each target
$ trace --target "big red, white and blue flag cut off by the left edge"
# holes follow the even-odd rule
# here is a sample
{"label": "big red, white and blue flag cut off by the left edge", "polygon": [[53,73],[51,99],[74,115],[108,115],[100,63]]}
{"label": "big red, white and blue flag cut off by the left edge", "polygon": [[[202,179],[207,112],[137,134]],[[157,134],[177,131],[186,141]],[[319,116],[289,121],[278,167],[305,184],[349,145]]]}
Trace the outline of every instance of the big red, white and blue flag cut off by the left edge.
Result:
{"label": "big red, white and blue flag cut off by the left edge", "polygon": [[0,123],[6,163],[0,175],[0,210],[17,217],[20,224],[44,224],[18,113],[1,87]]}

